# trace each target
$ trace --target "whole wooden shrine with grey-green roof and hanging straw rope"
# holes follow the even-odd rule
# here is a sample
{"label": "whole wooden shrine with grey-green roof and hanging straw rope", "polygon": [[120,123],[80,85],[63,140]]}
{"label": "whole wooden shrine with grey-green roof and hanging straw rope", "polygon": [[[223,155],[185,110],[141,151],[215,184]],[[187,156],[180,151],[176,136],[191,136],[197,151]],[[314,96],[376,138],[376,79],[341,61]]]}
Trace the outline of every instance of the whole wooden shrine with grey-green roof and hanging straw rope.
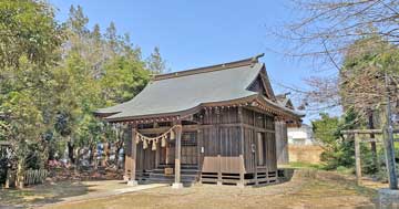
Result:
{"label": "whole wooden shrine with grey-green roof and hanging straw rope", "polygon": [[277,102],[262,55],[156,75],[133,100],[99,109],[130,127],[129,182],[276,182],[275,123],[300,125],[301,115]]}

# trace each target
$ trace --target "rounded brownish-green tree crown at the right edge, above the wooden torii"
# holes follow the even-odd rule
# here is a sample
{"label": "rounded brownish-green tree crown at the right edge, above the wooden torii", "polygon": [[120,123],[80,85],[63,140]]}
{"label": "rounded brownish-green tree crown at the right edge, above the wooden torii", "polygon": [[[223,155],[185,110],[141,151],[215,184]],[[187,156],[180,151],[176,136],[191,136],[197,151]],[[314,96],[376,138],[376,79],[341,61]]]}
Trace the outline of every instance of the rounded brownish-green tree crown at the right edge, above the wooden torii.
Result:
{"label": "rounded brownish-green tree crown at the right edge, above the wooden torii", "polygon": [[[365,36],[349,45],[339,72],[339,95],[345,109],[358,114],[378,109],[385,101],[385,73],[392,80],[399,75],[399,49],[380,36]],[[395,79],[396,77],[396,79]],[[392,92],[397,83],[389,83]],[[392,94],[392,100],[397,100]]]}

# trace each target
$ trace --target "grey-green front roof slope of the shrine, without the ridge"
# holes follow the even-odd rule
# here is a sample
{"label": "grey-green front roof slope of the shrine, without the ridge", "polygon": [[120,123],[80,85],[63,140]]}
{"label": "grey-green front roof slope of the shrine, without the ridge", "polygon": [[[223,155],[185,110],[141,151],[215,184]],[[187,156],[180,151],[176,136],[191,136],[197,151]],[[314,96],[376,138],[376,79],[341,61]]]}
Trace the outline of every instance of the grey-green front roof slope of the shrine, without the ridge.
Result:
{"label": "grey-green front roof slope of the shrine, without the ridge", "polygon": [[262,67],[263,64],[255,63],[253,65],[152,81],[133,100],[98,109],[96,113],[116,113],[106,117],[108,119],[172,114],[205,103],[257,95],[256,92],[246,88],[256,79]]}

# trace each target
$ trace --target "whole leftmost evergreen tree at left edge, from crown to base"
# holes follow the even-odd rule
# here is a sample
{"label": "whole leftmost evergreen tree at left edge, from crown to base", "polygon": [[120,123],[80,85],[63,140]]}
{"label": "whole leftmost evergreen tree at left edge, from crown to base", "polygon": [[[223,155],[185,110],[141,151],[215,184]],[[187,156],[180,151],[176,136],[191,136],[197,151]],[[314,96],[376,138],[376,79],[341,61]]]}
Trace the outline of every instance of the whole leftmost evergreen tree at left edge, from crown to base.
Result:
{"label": "whole leftmost evergreen tree at left edge, from crown to base", "polygon": [[33,0],[2,1],[0,31],[8,34],[0,35],[0,139],[12,144],[22,187],[25,169],[44,167],[52,139],[57,112],[53,69],[61,59],[64,35],[51,7]]}

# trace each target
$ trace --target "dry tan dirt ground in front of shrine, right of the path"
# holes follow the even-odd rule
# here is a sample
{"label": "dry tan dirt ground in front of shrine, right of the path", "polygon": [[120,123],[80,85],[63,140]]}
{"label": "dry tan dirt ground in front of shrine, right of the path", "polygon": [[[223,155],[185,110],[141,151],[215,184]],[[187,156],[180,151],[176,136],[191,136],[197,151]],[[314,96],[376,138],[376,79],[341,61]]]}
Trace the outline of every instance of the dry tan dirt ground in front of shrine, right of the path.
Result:
{"label": "dry tan dirt ground in front of shrine, right of the path", "polygon": [[266,187],[161,187],[44,208],[375,208],[376,190],[352,182],[330,173],[298,173],[290,181]]}

